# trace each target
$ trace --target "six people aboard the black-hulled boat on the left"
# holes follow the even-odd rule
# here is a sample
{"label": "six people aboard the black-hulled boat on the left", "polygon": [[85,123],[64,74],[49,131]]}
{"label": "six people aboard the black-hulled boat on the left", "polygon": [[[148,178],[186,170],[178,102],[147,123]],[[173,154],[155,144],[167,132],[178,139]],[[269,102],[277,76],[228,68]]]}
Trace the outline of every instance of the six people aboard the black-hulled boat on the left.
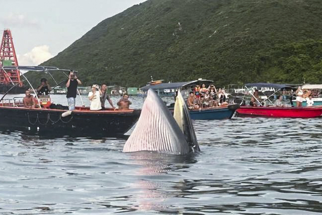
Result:
{"label": "six people aboard the black-hulled boat on the left", "polygon": [[[51,91],[51,87],[48,81],[45,78],[42,78],[40,82],[41,85],[37,88],[37,96],[39,97],[48,95]],[[70,71],[69,78],[66,82],[66,98],[68,103],[68,109],[71,111],[76,109],[78,85],[81,85],[81,81],[78,79],[75,72]],[[88,100],[90,102],[90,110],[105,110],[106,100],[108,101],[113,110],[116,109],[107,93],[106,84],[102,84],[101,87],[99,87],[98,85],[92,85],[91,91],[88,93]],[[118,110],[127,110],[130,108],[130,105],[132,105],[132,103],[129,100],[129,95],[126,93],[123,94],[122,98],[117,103]],[[36,98],[31,95],[30,90],[25,91],[25,97],[23,98],[23,106],[25,108],[39,108]]]}

